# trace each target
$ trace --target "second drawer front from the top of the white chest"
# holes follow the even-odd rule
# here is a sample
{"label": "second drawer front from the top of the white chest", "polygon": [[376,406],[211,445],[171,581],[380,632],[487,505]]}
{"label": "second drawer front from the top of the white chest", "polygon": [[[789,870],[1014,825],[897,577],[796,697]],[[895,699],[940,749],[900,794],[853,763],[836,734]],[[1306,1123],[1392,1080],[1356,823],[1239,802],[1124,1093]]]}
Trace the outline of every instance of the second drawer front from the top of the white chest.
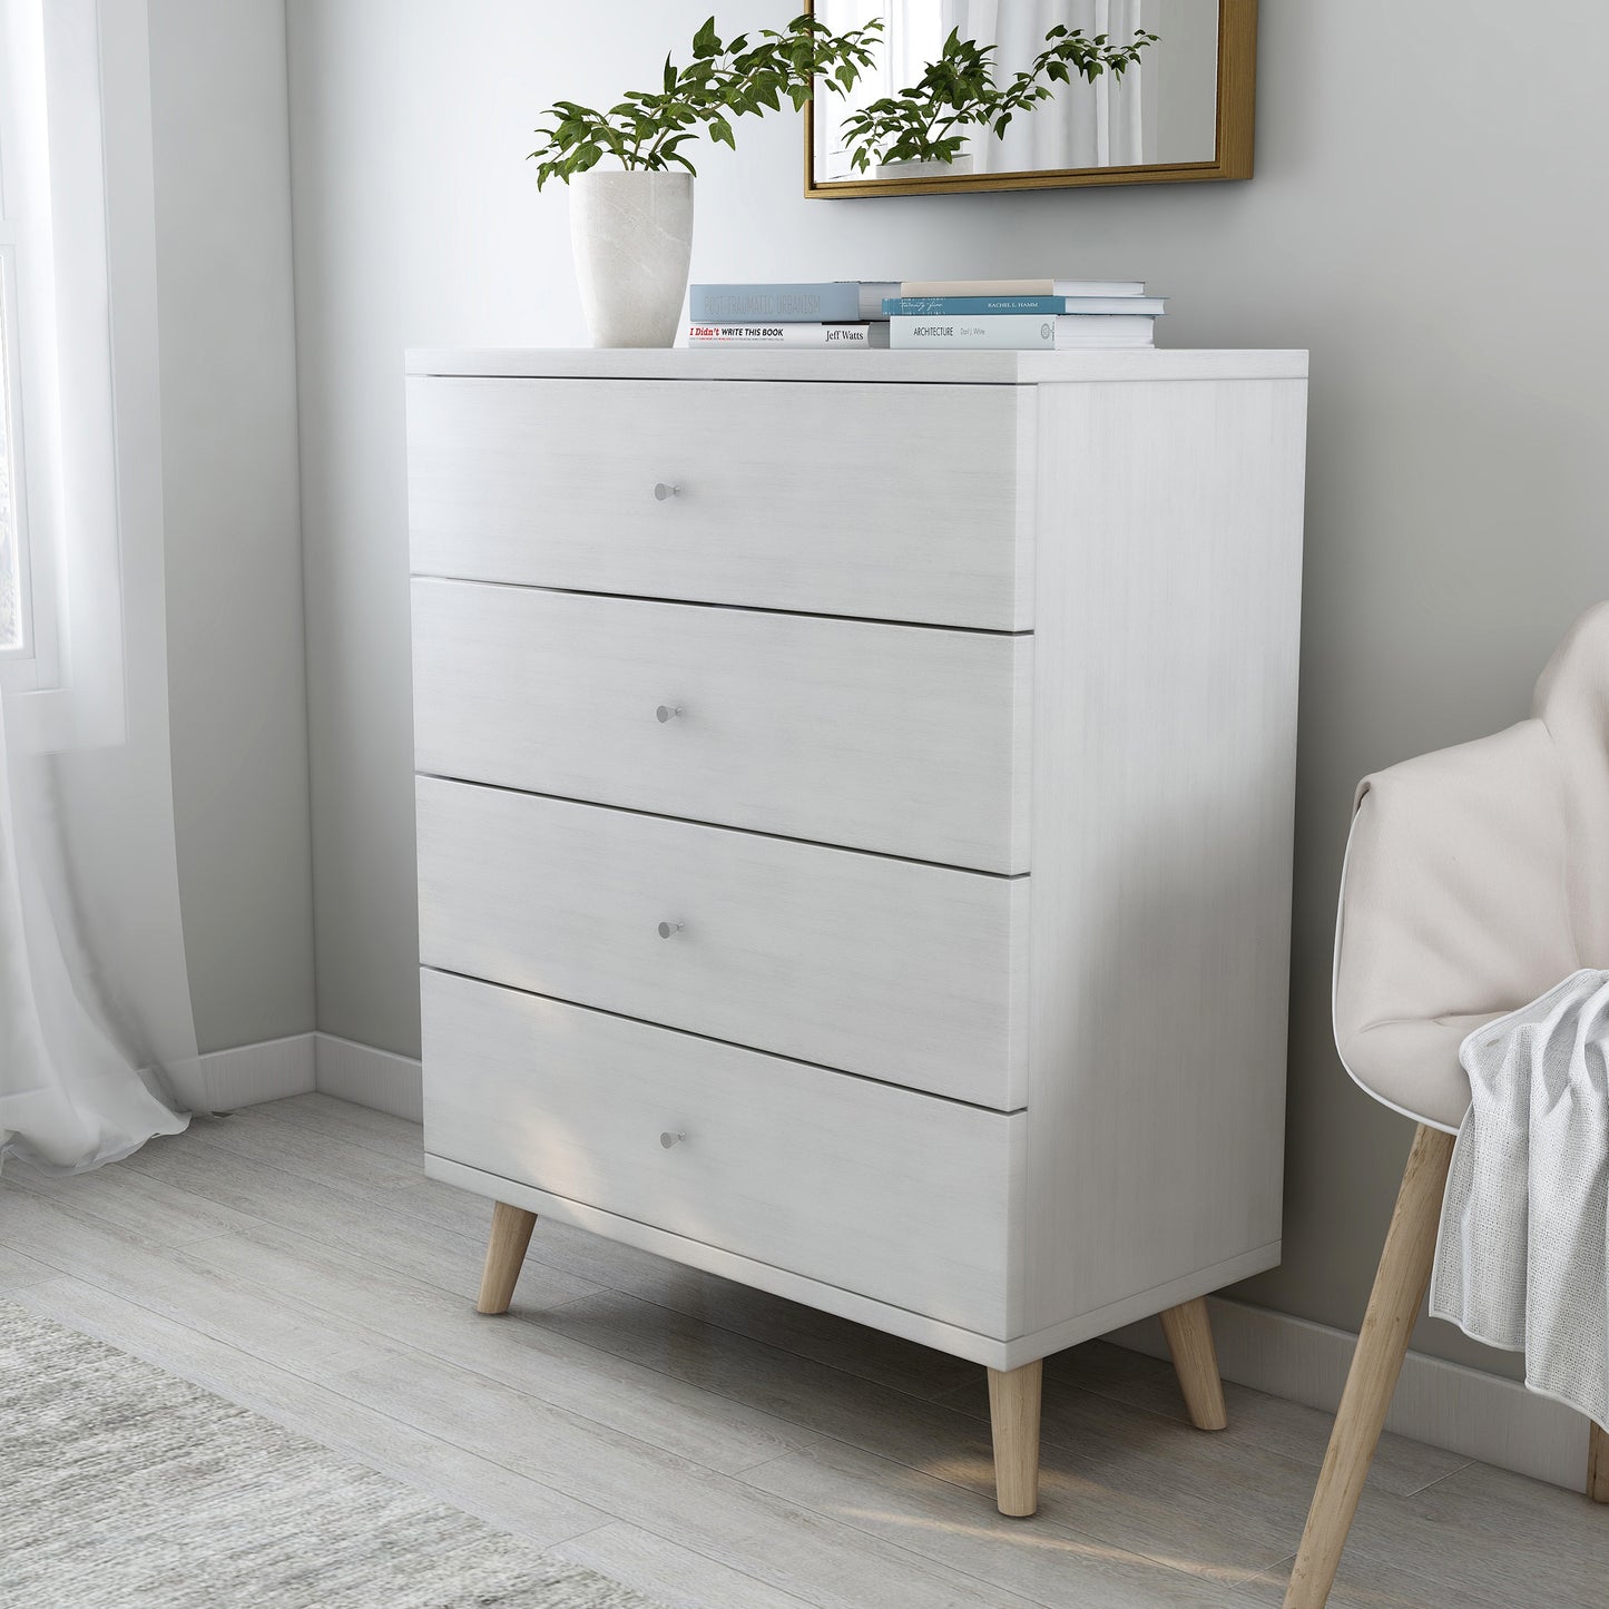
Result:
{"label": "second drawer front from the top of the white chest", "polygon": [[[1031,637],[414,582],[420,771],[1028,869]],[[669,721],[656,710],[681,710]]]}

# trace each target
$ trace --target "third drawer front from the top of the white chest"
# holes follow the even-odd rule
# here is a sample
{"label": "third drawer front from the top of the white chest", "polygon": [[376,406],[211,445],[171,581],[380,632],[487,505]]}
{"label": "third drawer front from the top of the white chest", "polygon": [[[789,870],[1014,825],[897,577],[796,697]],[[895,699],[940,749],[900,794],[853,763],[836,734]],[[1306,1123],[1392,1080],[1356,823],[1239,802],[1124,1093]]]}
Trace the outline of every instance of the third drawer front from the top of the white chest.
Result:
{"label": "third drawer front from the top of the white chest", "polygon": [[417,800],[425,965],[1022,1105],[1027,879],[434,777]]}

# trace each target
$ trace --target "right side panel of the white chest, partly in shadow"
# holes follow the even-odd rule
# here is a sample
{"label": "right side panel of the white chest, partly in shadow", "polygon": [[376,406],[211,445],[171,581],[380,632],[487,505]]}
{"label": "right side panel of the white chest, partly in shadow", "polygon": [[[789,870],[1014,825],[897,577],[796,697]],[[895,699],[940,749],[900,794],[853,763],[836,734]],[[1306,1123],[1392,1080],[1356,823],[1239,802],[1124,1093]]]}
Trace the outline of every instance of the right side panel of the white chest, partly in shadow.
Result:
{"label": "right side panel of the white chest, partly in shadow", "polygon": [[1305,383],[1039,418],[1028,1319],[1076,1332],[1279,1239]]}

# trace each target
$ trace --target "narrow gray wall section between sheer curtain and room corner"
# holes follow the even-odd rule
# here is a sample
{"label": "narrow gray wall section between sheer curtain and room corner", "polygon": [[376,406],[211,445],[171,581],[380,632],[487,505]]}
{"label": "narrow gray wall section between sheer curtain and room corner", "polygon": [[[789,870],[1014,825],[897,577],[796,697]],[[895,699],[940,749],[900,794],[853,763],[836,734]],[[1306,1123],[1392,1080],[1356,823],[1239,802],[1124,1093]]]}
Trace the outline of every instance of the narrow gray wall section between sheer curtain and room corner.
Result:
{"label": "narrow gray wall section between sheer curtain and room corner", "polygon": [[174,825],[203,1051],[314,1027],[282,0],[150,0]]}

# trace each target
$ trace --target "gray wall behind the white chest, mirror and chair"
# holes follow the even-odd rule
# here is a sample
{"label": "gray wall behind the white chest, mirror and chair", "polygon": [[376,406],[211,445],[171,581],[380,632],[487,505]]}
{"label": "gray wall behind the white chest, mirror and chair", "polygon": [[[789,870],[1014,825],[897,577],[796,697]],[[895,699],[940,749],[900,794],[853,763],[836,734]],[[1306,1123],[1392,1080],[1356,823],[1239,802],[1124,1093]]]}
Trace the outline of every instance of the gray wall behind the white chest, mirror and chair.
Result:
{"label": "gray wall behind the white chest, mirror and chair", "polygon": [[[402,348],[584,339],[555,95],[652,87],[706,0],[288,0],[320,1027],[417,1049]],[[727,3],[722,26],[792,5]],[[1263,8],[1258,177],[804,201],[792,117],[700,159],[695,278],[1142,275],[1173,346],[1313,352],[1286,1265],[1355,1327],[1408,1125],[1340,1072],[1327,988],[1356,777],[1521,716],[1609,595],[1598,61],[1498,0]],[[1558,60],[1554,60],[1554,51]],[[605,101],[607,103],[607,101]],[[1500,1366],[1442,1326],[1421,1345]]]}

